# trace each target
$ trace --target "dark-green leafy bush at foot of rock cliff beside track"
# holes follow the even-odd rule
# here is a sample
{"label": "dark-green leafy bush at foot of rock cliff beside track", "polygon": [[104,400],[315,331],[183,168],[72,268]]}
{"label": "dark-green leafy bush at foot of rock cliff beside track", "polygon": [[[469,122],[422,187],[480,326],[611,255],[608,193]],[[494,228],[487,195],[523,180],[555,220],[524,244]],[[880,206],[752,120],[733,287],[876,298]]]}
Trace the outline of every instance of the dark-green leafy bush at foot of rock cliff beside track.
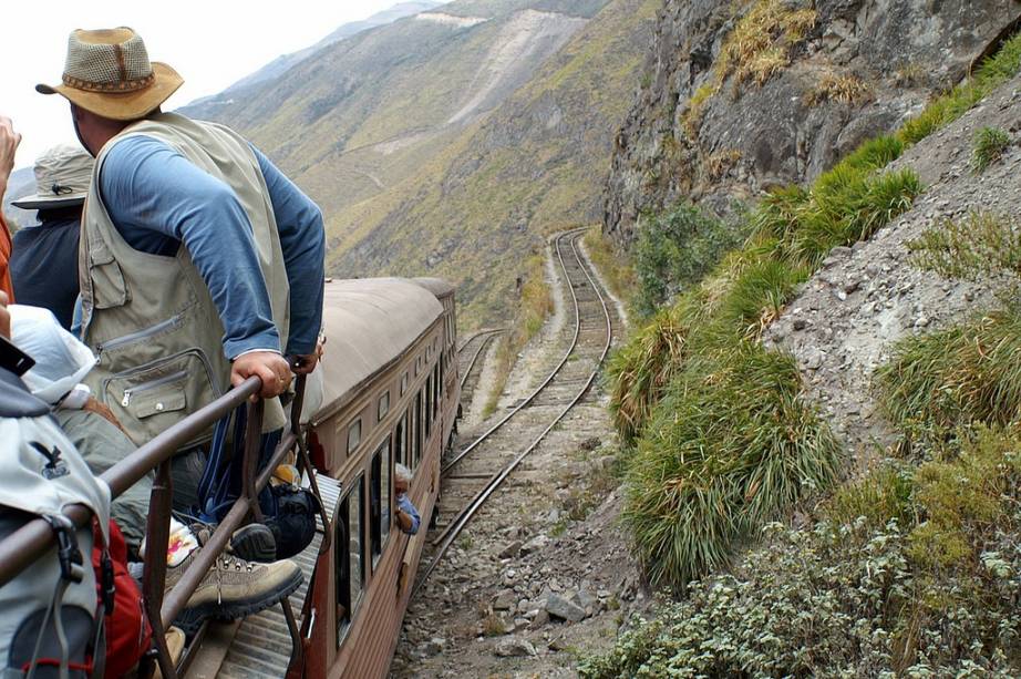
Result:
{"label": "dark-green leafy bush at foot of rock cliff beside track", "polygon": [[639,315],[651,316],[672,292],[698,282],[741,238],[733,225],[689,203],[647,219],[635,246]]}

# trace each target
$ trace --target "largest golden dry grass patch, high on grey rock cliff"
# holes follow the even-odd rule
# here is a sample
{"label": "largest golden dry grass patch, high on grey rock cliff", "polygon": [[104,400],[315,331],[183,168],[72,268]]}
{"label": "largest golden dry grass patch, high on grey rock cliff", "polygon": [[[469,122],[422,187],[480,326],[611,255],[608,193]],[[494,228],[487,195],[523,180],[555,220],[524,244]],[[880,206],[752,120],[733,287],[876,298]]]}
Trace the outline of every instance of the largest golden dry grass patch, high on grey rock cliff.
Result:
{"label": "largest golden dry grass patch, high on grey rock cliff", "polygon": [[763,85],[791,63],[791,52],[815,27],[814,9],[792,10],[782,0],[759,0],[734,27],[716,60],[720,82]]}

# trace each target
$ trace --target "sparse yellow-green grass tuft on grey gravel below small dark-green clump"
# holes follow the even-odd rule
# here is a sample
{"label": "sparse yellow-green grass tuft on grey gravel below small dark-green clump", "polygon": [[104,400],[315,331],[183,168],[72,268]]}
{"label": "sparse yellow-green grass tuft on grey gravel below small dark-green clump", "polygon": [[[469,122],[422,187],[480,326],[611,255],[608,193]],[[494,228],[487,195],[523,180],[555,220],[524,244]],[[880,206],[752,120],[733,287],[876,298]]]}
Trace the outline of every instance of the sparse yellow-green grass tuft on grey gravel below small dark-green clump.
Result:
{"label": "sparse yellow-green grass tuft on grey gravel below small dark-green clump", "polygon": [[1021,277],[1021,228],[992,213],[945,219],[907,246],[912,264],[947,278],[979,280],[1002,272]]}

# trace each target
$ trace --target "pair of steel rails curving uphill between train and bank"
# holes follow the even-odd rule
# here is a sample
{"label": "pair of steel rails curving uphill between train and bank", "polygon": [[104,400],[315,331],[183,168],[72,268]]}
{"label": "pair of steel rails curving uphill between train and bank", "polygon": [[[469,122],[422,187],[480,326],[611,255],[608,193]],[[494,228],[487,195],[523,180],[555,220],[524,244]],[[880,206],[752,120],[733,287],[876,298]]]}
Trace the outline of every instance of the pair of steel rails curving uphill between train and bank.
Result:
{"label": "pair of steel rails curving uphill between train and bank", "polygon": [[[560,266],[564,269],[565,278],[567,276],[567,268],[564,266],[564,258],[560,253],[560,240],[565,237],[576,236],[577,234],[581,233],[581,230],[584,229],[566,232],[564,234],[560,234],[557,237],[557,241],[556,241],[557,257],[559,258]],[[595,279],[588,272],[588,269],[586,268],[585,264],[581,261],[581,257],[580,255],[578,255],[578,248],[575,245],[576,240],[577,239],[570,240],[571,250],[574,250],[574,254],[578,260],[578,264],[581,265],[581,271],[585,274],[585,277],[588,279],[589,285],[592,287],[592,290],[595,290],[596,296],[599,298],[599,304],[602,309],[602,316],[606,320],[606,340],[602,344],[602,351],[599,354],[599,359],[596,361],[596,364],[592,368],[591,372],[589,373],[588,379],[586,380],[585,384],[577,392],[574,399],[571,399],[570,403],[568,403],[564,408],[564,410],[561,410],[560,413],[557,414],[557,416],[546,426],[546,429],[543,430],[543,432],[538,436],[535,438],[535,440],[532,441],[532,443],[528,444],[527,447],[525,447],[525,450],[518,453],[514,457],[514,460],[512,460],[507,465],[502,467],[496,474],[491,476],[488,481],[486,482],[485,486],[468,502],[468,504],[461,511],[461,513],[458,513],[457,516],[455,516],[454,519],[451,521],[451,523],[446,526],[446,528],[440,535],[433,538],[432,543],[434,545],[439,545],[439,548],[436,549],[436,553],[433,555],[432,560],[429,563],[429,566],[419,576],[417,582],[415,583],[414,590],[412,591],[412,595],[411,595],[412,597],[414,597],[417,594],[419,589],[429,578],[430,574],[432,574],[433,569],[435,569],[435,567],[440,564],[440,560],[446,554],[447,549],[450,549],[451,545],[454,543],[454,541],[457,538],[461,532],[465,528],[465,526],[467,526],[472,517],[478,512],[479,508],[482,508],[482,506],[489,498],[489,496],[501,486],[501,484],[503,484],[503,482],[507,479],[507,476],[509,476],[511,473],[515,469],[517,469],[517,466],[522,463],[522,461],[524,461],[525,457],[527,457],[536,447],[538,447],[539,443],[542,443],[543,440],[546,439],[546,435],[550,431],[553,431],[553,428],[556,426],[560,422],[560,420],[563,420],[567,415],[567,413],[570,412],[570,410],[575,405],[577,405],[577,403],[585,397],[586,392],[591,388],[592,382],[596,380],[596,375],[599,373],[599,369],[602,366],[602,362],[606,360],[607,353],[609,353],[610,344],[613,339],[613,335],[612,335],[613,330],[612,330],[612,323],[610,322],[610,312],[607,307],[606,297],[604,297],[602,292],[599,290],[599,286],[596,284]],[[568,289],[570,290],[571,301],[575,308],[575,318],[577,321],[575,325],[575,335],[571,340],[570,349],[568,349],[568,352],[567,354],[565,354],[564,360],[561,360],[560,363],[557,366],[557,368],[555,368],[554,371],[550,373],[550,375],[546,378],[543,384],[540,384],[539,388],[532,395],[528,397],[528,400],[526,401],[526,403],[532,401],[538,394],[538,392],[542,391],[553,380],[556,373],[559,372],[560,368],[563,368],[564,363],[567,362],[568,357],[575,350],[575,347],[578,343],[578,336],[580,333],[580,328],[581,328],[581,313],[580,313],[580,309],[578,306],[578,297],[575,294],[574,286],[570,285],[569,280],[567,282],[568,282]],[[524,404],[515,409],[512,415],[518,412],[522,408],[524,408]],[[489,436],[501,425],[503,425],[504,422],[506,422],[509,419],[511,418],[507,416],[504,420],[502,420],[496,426],[489,429],[486,433],[484,433],[475,442],[473,442],[470,449],[473,449],[479,443],[482,443],[487,436]],[[461,460],[464,456],[464,454],[465,452],[462,452],[462,454],[458,455],[453,462],[451,462],[447,465],[447,467],[452,466],[454,463]]]}

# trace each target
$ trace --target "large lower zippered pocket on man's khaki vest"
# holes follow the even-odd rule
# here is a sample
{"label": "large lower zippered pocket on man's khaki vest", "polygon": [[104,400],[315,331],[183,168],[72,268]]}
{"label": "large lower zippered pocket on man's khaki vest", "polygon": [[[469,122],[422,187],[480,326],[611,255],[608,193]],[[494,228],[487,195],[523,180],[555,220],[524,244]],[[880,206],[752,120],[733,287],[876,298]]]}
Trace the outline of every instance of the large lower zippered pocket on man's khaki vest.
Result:
{"label": "large lower zippered pocket on man's khaki vest", "polygon": [[219,395],[200,349],[118,372],[103,381],[102,391],[104,403],[138,445]]}

